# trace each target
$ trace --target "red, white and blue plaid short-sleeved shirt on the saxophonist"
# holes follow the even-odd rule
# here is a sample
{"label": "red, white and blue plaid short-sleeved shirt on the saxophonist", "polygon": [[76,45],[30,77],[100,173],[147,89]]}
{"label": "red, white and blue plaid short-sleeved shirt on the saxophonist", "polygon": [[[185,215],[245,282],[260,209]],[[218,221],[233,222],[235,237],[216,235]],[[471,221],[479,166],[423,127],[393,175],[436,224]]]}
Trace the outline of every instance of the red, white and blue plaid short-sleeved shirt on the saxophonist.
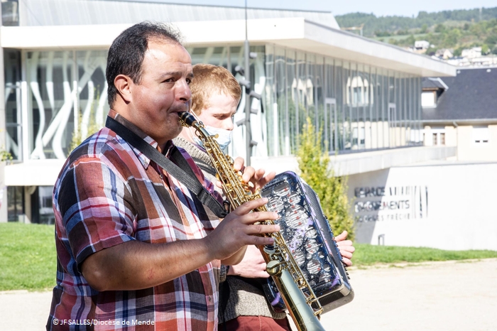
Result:
{"label": "red, white and blue plaid short-sleeved shirt on the saxophonist", "polygon": [[[157,148],[122,116],[113,110],[109,116]],[[172,146],[168,143],[168,151]],[[214,192],[192,158],[180,151]],[[217,226],[184,185],[121,137],[104,128],[71,153],[55,184],[53,206],[57,285],[47,330],[217,329],[219,260],[138,291],[99,292],[84,279],[82,262],[101,249],[131,240],[200,239]]]}

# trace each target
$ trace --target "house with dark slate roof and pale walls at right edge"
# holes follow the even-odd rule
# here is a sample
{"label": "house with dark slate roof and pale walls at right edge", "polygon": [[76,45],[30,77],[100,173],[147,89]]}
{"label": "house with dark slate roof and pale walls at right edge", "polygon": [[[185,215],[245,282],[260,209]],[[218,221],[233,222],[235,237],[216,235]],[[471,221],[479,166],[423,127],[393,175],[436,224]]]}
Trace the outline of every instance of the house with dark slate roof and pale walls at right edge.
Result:
{"label": "house with dark slate roof and pale walls at right edge", "polygon": [[426,146],[457,146],[460,161],[497,161],[497,67],[425,78],[422,91]]}

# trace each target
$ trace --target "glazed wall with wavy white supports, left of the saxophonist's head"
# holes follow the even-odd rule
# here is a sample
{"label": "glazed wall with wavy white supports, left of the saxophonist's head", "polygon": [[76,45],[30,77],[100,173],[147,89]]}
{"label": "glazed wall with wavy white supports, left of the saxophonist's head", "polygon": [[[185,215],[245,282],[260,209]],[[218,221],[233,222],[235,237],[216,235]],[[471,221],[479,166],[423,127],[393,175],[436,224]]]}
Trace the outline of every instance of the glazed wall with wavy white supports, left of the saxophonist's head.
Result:
{"label": "glazed wall with wavy white supports, left of the saxophonist's head", "polygon": [[106,64],[104,50],[26,52],[28,158],[65,159],[73,141],[104,126]]}

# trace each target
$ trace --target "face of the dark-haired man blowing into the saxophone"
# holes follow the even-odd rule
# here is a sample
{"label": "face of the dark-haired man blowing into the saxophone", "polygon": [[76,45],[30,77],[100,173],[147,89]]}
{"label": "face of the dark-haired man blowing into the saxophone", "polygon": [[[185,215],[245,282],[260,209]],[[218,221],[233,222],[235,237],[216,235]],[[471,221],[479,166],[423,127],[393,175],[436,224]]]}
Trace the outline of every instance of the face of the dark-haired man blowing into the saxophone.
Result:
{"label": "face of the dark-haired man blowing into the saxophone", "polygon": [[176,43],[149,40],[139,84],[131,82],[131,122],[163,146],[180,134],[178,112],[186,112],[192,60]]}

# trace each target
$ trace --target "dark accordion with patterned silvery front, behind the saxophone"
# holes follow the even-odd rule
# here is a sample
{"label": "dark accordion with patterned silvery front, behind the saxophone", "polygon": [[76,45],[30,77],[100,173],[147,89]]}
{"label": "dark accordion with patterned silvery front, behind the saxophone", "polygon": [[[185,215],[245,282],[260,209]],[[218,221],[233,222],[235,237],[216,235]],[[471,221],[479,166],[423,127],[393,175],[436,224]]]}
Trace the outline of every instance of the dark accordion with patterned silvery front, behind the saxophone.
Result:
{"label": "dark accordion with patterned silvery front, behind the saxophone", "polygon": [[[280,233],[324,313],[351,302],[354,291],[349,273],[314,190],[288,171],[266,184],[261,196],[268,198],[268,210],[280,215],[275,223],[280,225]],[[271,278],[263,283],[263,290],[275,311],[285,309]]]}

